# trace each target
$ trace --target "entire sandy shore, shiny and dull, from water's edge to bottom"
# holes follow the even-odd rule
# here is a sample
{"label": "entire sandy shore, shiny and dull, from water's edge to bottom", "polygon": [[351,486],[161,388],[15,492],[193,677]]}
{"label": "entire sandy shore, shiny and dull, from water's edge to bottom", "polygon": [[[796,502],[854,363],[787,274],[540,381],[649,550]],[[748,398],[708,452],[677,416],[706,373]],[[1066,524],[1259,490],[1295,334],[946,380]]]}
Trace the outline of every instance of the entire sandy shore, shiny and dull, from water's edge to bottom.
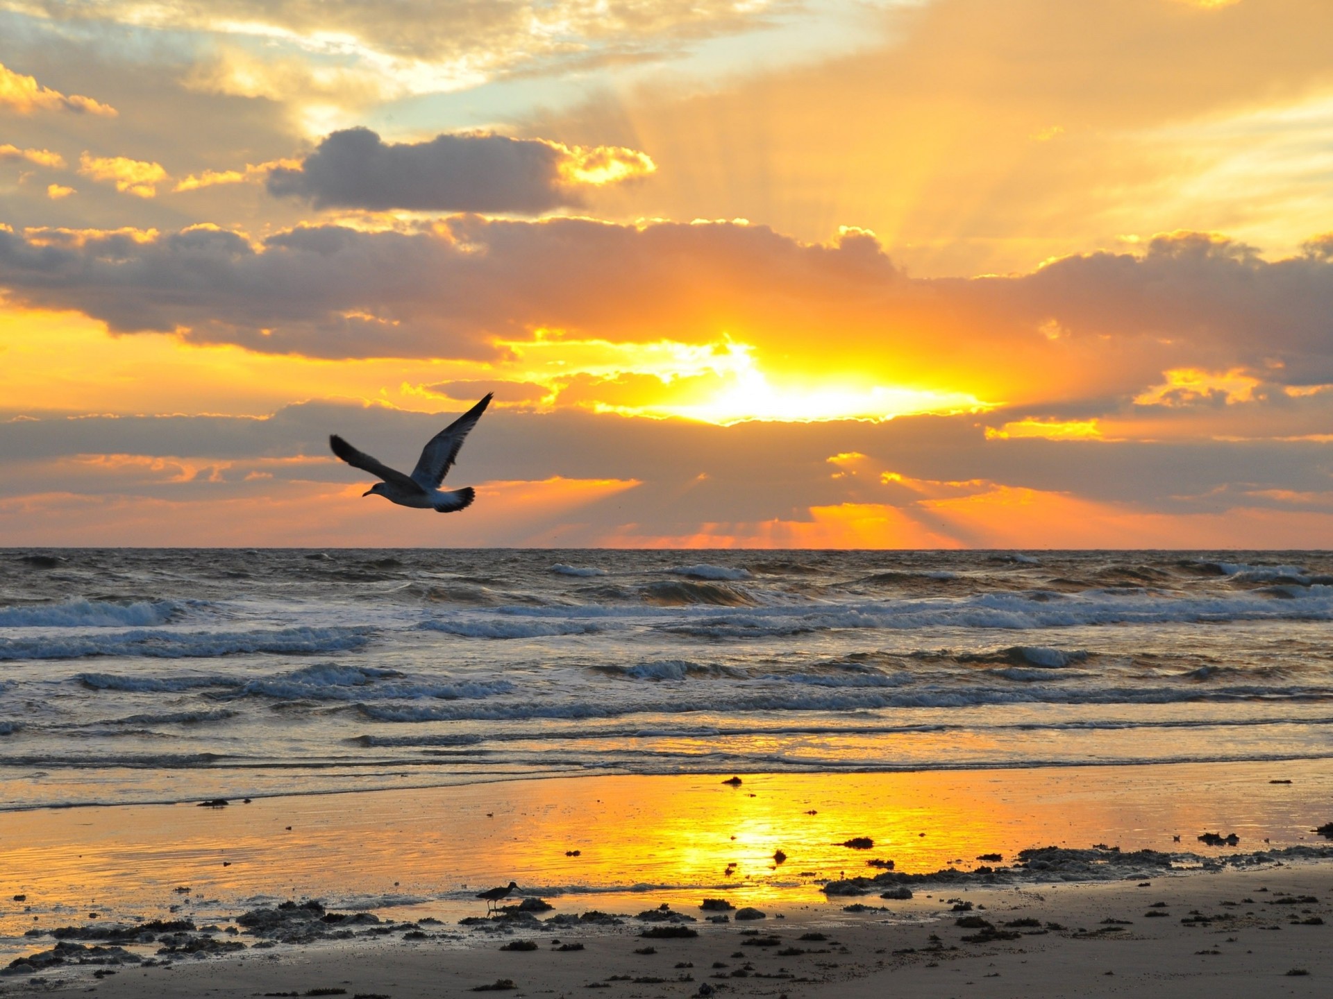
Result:
{"label": "entire sandy shore, shiny and dull, from water's edge to bottom", "polygon": [[[607,777],[9,813],[3,963],[51,952],[56,927],[75,934],[68,960],[15,966],[0,995],[408,999],[471,995],[499,979],[515,983],[509,995],[1324,994],[1333,843],[1312,830],[1333,819],[1329,771],[1306,761],[740,785]],[[1210,846],[1198,840],[1206,831],[1238,842]],[[849,836],[873,847],[845,846]],[[1046,844],[1078,850],[1046,866],[1018,856]],[[1180,870],[1200,864],[1214,870]],[[944,868],[958,874],[916,876]],[[836,894],[844,876],[878,880]],[[476,892],[511,878],[521,890],[511,902],[541,895],[553,908],[485,919]],[[901,887],[913,896],[880,898]],[[704,898],[733,908],[702,911]],[[344,915],[300,908],[309,899]],[[284,900],[316,932],[265,934],[263,919],[239,919]],[[746,906],[766,918],[734,919]],[[620,920],[579,919],[589,910]],[[121,940],[133,958],[75,948],[117,946],[97,934],[152,919],[193,928]],[[697,936],[641,936],[660,927]],[[809,934],[828,939],[801,939]],[[536,946],[500,950],[515,940]],[[89,959],[107,963],[77,963]]]}

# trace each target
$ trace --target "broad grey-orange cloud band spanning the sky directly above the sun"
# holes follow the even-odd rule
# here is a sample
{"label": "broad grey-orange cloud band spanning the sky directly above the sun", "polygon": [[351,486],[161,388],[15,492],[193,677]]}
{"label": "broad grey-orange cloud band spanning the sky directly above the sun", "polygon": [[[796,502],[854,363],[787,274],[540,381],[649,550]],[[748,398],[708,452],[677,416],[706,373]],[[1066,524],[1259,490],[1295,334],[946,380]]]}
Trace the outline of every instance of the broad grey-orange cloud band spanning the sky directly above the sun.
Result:
{"label": "broad grey-orange cloud band spanning the sky directly above the sun", "polygon": [[[263,353],[500,362],[539,346],[565,344],[569,360],[580,341],[627,345],[616,369],[573,368],[595,376],[567,386],[580,402],[599,386],[621,401],[647,389],[680,401],[690,384],[668,385],[657,369],[655,388],[636,374],[652,369],[636,369],[635,352],[661,344],[712,354],[714,374],[744,345],[740,356],[793,400],[813,398],[806,381],[868,397],[876,386],[953,393],[1005,404],[1010,421],[1074,418],[1057,410],[1076,401],[1128,405],[1172,370],[1333,384],[1333,260],[1266,261],[1200,233],[961,280],[908,277],[864,232],[805,244],[730,222],[463,216],[401,232],[303,226],[259,241],[216,226],[77,241],[0,232],[0,286],[117,333],[180,332]],[[762,385],[738,388],[773,404]],[[1286,405],[1280,394],[1266,401]]]}

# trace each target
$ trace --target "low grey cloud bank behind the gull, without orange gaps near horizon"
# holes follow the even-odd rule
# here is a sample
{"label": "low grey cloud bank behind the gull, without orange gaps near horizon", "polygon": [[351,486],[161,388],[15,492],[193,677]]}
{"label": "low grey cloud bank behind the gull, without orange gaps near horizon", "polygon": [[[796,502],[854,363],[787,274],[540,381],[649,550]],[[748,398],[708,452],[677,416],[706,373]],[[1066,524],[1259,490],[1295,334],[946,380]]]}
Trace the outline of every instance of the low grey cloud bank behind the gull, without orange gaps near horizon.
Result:
{"label": "low grey cloud bank behind the gull, without orange gaps near horizon", "polygon": [[[309,402],[264,420],[241,417],[85,417],[0,424],[0,498],[32,492],[108,490],[89,474],[73,481],[67,460],[80,454],[247,462],[327,457],[337,430],[385,461],[415,460],[412,442],[449,417],[388,408]],[[577,442],[577,446],[573,446]],[[1328,493],[1333,454],[1305,441],[1053,442],[988,441],[972,417],[904,417],[890,422],[753,422],[722,428],[678,420],[633,420],[589,413],[493,412],[460,461],[460,481],[567,478],[639,480],[643,485],[580,514],[593,523],[633,522],[648,533],[685,534],[700,523],[808,519],[810,506],[909,505],[917,494],[878,474],[834,478],[829,458],[857,452],[873,468],[916,480],[984,480],[1045,492],[1096,497],[1145,510],[1220,513],[1233,506],[1325,509],[1326,500],[1293,503],[1260,490]],[[1237,481],[1244,469],[1244,481]],[[273,478],[353,482],[364,476],[332,458],[269,468]],[[235,477],[164,482],[144,468],[128,492],[155,496],[228,496],[272,484]],[[978,486],[984,492],[984,486]],[[616,513],[611,513],[616,507]]]}

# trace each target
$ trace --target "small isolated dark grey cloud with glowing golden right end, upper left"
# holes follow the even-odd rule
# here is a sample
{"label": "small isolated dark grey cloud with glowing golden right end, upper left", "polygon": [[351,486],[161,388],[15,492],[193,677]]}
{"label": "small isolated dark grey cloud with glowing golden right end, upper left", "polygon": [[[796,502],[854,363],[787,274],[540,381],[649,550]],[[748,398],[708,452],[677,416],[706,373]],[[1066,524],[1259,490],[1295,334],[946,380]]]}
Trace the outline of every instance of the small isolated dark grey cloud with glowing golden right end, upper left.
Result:
{"label": "small isolated dark grey cloud with glowing golden right end, upper left", "polygon": [[496,135],[384,143],[368,128],[349,128],[325,137],[300,166],[273,169],[268,190],[316,208],[540,214],[583,204],[581,189],[655,169],[633,149]]}

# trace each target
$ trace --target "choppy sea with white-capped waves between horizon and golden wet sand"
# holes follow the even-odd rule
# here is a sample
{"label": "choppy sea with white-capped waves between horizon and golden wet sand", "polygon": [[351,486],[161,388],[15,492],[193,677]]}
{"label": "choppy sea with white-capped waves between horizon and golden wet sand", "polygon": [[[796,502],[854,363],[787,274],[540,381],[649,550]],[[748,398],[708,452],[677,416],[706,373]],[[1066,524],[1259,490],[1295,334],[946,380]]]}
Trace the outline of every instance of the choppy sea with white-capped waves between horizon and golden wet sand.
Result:
{"label": "choppy sea with white-capped waves between horizon and golden wet sand", "polygon": [[1317,551],[0,550],[0,810],[1333,757]]}

